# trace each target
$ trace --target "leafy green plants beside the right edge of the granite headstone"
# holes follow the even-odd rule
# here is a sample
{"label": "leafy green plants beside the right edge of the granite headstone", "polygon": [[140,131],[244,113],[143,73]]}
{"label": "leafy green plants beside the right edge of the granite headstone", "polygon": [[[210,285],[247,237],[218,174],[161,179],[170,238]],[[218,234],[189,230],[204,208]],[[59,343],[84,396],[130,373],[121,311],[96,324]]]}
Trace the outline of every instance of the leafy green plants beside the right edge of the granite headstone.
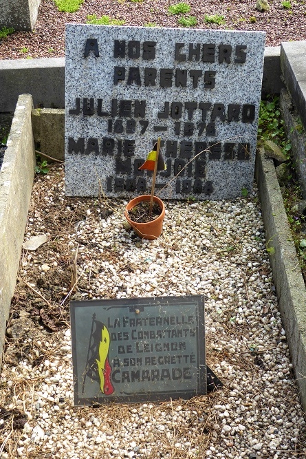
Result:
{"label": "leafy green plants beside the right edge of the granite headstone", "polygon": [[291,151],[291,143],[287,140],[285,134],[285,123],[281,118],[281,111],[279,109],[279,98],[274,96],[268,100],[261,100],[259,110],[259,138],[265,140],[272,140],[275,142],[289,158]]}

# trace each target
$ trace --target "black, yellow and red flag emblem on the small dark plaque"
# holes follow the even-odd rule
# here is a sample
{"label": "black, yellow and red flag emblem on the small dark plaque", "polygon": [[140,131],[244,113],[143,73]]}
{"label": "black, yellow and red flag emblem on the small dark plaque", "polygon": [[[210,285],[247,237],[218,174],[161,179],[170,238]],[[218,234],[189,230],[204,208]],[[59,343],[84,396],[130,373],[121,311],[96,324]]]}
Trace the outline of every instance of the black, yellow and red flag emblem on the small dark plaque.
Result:
{"label": "black, yellow and red flag emblem on the small dark plaque", "polygon": [[[95,330],[93,331],[94,327]],[[114,392],[109,363],[110,343],[109,330],[104,323],[93,317],[85,374],[100,383],[100,390],[105,395],[111,395]],[[91,356],[89,356],[90,353]],[[85,385],[85,379],[83,385]]]}

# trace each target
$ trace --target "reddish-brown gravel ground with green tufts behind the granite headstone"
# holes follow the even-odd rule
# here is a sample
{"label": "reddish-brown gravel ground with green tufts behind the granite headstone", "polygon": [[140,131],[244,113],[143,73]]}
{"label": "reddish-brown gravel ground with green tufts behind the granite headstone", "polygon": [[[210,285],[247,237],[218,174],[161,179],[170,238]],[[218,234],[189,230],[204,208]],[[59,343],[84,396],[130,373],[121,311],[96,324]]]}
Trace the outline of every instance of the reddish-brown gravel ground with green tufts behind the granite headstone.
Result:
{"label": "reddish-brown gravel ground with green tufts behind the granite headstone", "polygon": [[[161,27],[179,27],[179,16],[168,14],[175,0],[84,0],[75,13],[59,12],[53,0],[41,0],[34,32],[15,32],[0,43],[1,59],[65,56],[65,23],[85,23],[88,14],[107,15],[125,21],[125,25],[155,23]],[[197,28],[230,30],[265,30],[266,45],[277,46],[281,41],[306,39],[306,6],[304,0],[292,0],[291,8],[282,0],[269,0],[270,11],[255,9],[256,0],[186,0],[191,6],[187,16],[197,18]],[[224,25],[207,24],[205,15],[221,14]],[[253,18],[253,19],[251,19]],[[254,18],[256,22],[254,21]]]}

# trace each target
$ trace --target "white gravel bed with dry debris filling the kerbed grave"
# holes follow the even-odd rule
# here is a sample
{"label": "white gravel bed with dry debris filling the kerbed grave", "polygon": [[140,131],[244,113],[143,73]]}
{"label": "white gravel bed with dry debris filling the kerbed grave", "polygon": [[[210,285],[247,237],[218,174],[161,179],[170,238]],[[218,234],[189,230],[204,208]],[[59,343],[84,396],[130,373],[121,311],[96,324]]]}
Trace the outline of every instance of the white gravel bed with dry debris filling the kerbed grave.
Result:
{"label": "white gravel bed with dry debris filling the kerbed grave", "polygon": [[[126,228],[124,201],[66,198],[63,186],[63,167],[51,166],[33,188],[25,241],[48,241],[21,255],[0,458],[306,458],[256,189],[231,201],[166,202],[162,236],[142,241]],[[221,389],[189,401],[73,406],[69,299],[197,294]]]}

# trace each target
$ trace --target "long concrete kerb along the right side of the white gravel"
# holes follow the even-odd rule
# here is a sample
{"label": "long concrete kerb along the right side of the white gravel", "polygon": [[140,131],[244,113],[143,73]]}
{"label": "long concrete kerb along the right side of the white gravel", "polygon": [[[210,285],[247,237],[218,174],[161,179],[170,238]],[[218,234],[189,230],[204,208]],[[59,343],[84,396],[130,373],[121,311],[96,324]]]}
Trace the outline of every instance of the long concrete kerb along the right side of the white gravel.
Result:
{"label": "long concrete kerb along the right side of the white gravel", "polygon": [[287,335],[300,399],[306,411],[306,289],[287,222],[272,159],[256,157],[256,182],[265,225],[279,309]]}

